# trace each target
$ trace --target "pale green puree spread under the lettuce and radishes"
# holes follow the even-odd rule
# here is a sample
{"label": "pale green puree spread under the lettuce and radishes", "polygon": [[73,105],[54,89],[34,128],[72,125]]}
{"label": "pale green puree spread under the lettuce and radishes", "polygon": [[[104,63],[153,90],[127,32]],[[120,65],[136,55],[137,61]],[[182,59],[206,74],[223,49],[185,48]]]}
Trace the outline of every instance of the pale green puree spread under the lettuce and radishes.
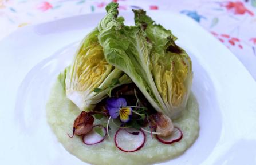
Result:
{"label": "pale green puree spread under the lettuce and radishes", "polygon": [[[74,119],[80,114],[80,110],[68,98],[66,98],[63,80],[58,78],[52,88],[49,101],[46,105],[46,114],[48,123],[54,134],[56,134],[60,143],[77,158],[91,164],[153,164],[163,162],[181,155],[191,146],[198,137],[198,103],[194,95],[190,95],[186,110],[182,112],[180,118],[174,120],[174,124],[183,132],[183,138],[179,142],[171,145],[162,144],[156,138],[151,138],[147,134],[144,147],[136,152],[123,152],[116,148],[113,137],[116,128],[112,125],[111,138],[99,144],[87,146],[82,142],[81,136],[69,138],[67,133],[72,135]],[[99,120],[95,120],[100,123]]]}

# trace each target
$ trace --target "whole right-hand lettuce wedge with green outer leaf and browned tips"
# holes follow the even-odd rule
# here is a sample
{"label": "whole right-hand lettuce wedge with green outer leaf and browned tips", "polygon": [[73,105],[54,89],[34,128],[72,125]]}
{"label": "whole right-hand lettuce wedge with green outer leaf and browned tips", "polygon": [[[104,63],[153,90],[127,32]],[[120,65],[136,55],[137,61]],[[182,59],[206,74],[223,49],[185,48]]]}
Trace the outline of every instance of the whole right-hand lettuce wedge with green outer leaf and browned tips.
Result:
{"label": "whole right-hand lettuce wedge with green outer leaf and browned tips", "polygon": [[186,106],[192,81],[191,61],[170,30],[135,10],[136,26],[117,20],[118,5],[107,5],[98,26],[105,59],[124,71],[159,112],[173,117]]}

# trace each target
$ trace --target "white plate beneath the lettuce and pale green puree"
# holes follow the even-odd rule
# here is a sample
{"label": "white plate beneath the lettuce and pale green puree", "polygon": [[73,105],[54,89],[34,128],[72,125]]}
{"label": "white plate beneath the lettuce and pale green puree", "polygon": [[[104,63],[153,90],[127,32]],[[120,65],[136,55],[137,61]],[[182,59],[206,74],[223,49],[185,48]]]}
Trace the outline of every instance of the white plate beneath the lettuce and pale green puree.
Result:
{"label": "white plate beneath the lettuce and pale green puree", "polygon": [[[256,83],[225,46],[192,19],[148,13],[179,38],[194,70],[200,134],[183,155],[162,164],[256,164]],[[128,25],[132,13],[122,13]],[[0,164],[85,164],[67,152],[46,123],[56,76],[81,39],[104,16],[82,15],[27,26],[0,42]]]}

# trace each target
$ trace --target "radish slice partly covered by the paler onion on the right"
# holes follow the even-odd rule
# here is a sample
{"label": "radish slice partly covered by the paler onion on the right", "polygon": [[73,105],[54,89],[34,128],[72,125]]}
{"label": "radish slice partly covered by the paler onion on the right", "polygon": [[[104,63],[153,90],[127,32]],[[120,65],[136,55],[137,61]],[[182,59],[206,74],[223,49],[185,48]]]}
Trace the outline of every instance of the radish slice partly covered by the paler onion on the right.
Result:
{"label": "radish slice partly covered by the paler onion on the right", "polygon": [[179,140],[182,139],[182,136],[183,136],[182,131],[179,128],[174,127],[174,131],[172,131],[172,134],[170,136],[162,137],[162,136],[156,135],[156,138],[161,143],[172,144],[174,142],[179,142]]}

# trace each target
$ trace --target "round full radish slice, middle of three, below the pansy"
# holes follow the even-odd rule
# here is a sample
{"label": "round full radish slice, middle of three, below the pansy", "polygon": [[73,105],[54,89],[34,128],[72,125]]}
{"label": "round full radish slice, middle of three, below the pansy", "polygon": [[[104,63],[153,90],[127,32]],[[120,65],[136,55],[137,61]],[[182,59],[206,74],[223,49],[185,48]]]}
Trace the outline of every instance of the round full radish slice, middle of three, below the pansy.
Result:
{"label": "round full radish slice, middle of three, below the pansy", "polygon": [[145,133],[134,128],[119,128],[115,134],[115,144],[124,152],[135,152],[143,147],[146,140]]}

